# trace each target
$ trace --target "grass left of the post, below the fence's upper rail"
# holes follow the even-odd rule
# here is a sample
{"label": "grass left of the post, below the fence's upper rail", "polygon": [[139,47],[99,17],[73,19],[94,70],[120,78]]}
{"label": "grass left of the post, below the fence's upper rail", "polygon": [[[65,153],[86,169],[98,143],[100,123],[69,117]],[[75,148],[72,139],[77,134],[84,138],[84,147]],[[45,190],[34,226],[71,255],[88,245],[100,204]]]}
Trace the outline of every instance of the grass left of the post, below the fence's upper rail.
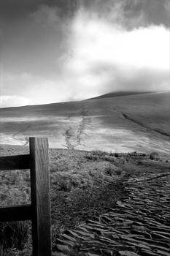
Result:
{"label": "grass left of the post, below the fence's upper rail", "polygon": [[[29,172],[27,170],[1,171],[1,206],[23,205],[30,203],[29,178]],[[30,255],[30,248],[30,222],[0,222],[1,256],[27,256]]]}

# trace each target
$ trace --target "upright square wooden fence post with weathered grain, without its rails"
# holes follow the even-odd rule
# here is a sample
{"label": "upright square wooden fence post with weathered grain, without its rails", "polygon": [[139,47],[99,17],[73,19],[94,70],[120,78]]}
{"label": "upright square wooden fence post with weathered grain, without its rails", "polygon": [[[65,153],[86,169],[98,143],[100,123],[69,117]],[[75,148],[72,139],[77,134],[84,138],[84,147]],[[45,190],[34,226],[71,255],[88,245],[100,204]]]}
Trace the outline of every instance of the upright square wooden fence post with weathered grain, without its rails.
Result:
{"label": "upright square wooden fence post with weathered grain, without its rails", "polygon": [[33,256],[51,256],[48,140],[30,138]]}

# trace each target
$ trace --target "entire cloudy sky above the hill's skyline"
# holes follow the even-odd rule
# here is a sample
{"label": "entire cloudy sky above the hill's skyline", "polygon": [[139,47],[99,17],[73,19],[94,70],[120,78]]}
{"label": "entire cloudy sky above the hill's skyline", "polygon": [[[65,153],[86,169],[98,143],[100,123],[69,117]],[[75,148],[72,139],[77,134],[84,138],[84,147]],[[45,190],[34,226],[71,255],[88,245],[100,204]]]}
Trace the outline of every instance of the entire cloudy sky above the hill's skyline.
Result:
{"label": "entire cloudy sky above the hill's skyline", "polygon": [[0,108],[169,90],[169,0],[1,0]]}

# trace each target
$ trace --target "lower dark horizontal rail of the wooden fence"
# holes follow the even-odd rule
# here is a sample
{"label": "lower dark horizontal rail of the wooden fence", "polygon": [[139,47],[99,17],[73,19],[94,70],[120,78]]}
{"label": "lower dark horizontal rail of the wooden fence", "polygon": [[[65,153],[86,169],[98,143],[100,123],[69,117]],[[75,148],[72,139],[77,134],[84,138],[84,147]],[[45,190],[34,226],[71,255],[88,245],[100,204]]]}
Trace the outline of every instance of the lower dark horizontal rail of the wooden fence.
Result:
{"label": "lower dark horizontal rail of the wooden fence", "polygon": [[0,207],[0,222],[14,222],[31,218],[31,205]]}

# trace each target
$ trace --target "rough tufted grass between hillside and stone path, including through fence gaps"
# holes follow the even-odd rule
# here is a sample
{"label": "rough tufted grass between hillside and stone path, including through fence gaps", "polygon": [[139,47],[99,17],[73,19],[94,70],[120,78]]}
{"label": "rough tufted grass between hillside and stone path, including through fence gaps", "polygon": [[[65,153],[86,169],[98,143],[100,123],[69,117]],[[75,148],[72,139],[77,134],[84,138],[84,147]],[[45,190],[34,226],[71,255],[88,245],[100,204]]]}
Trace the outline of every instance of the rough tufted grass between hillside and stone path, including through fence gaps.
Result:
{"label": "rough tufted grass between hillside and stone path, including through fence gaps", "polygon": [[[26,154],[27,147],[3,147],[1,155]],[[50,150],[53,249],[64,230],[107,211],[123,197],[131,164],[158,160],[156,153],[112,154],[103,151]],[[163,159],[167,161],[167,159]],[[28,170],[0,173],[1,205],[30,203]],[[0,223],[0,255],[31,255],[31,223]]]}

